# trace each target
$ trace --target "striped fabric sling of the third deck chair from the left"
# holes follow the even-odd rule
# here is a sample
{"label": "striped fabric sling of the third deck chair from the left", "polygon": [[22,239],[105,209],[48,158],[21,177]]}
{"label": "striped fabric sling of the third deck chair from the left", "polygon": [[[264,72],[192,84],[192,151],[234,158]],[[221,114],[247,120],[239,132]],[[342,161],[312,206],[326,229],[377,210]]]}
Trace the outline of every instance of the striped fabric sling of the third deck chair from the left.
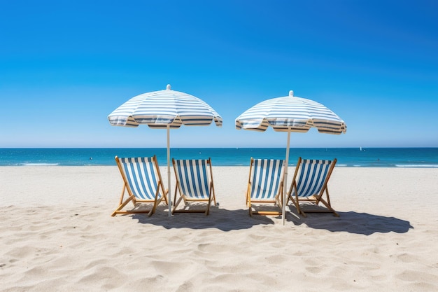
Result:
{"label": "striped fabric sling of the third deck chair from the left", "polygon": [[254,200],[274,200],[281,186],[284,160],[254,159],[253,163],[250,198]]}

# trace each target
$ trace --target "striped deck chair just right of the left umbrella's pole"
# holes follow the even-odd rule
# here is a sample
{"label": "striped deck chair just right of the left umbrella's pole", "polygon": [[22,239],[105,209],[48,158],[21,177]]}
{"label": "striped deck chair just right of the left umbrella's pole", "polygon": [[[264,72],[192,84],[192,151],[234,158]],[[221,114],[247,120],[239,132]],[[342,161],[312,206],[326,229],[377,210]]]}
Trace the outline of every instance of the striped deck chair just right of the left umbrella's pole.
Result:
{"label": "striped deck chair just right of the left umbrella's pole", "polygon": [[[176,176],[176,186],[172,209],[174,213],[205,213],[209,215],[211,200],[216,205],[214,192],[213,173],[211,172],[211,159],[202,160],[175,160],[172,159]],[[180,197],[176,201],[176,194]],[[177,209],[178,204],[184,201],[183,209]],[[198,206],[191,206],[191,202],[205,202],[206,207],[199,209]]]}

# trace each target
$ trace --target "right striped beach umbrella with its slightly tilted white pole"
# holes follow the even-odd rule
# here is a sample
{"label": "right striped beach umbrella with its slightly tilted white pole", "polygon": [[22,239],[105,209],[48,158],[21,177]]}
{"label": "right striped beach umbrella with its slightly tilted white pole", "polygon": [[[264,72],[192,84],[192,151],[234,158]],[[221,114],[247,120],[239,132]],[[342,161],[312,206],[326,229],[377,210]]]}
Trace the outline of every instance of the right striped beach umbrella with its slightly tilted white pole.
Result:
{"label": "right striped beach umbrella with its slightly tilted white pole", "polygon": [[307,132],[311,127],[316,127],[320,133],[341,134],[346,132],[347,126],[344,120],[323,104],[311,99],[294,97],[293,91],[290,90],[289,96],[264,100],[236,118],[237,130],[263,132],[268,127],[272,127],[276,132],[288,132],[283,188],[282,221],[284,225],[290,132]]}

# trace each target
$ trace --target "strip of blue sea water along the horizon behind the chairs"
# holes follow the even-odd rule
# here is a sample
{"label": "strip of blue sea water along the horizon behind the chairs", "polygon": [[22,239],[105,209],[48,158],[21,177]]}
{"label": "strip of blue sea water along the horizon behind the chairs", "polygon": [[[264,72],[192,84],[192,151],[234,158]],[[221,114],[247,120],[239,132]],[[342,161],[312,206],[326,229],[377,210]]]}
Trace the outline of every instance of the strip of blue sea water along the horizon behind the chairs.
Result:
{"label": "strip of blue sea water along the horizon behind the chairs", "polygon": [[[157,155],[167,165],[166,148],[0,148],[0,166],[115,165],[114,157]],[[337,158],[338,167],[434,167],[438,148],[290,148],[290,165],[298,157]],[[171,158],[211,158],[214,166],[246,166],[250,158],[285,158],[285,148],[172,148]]]}

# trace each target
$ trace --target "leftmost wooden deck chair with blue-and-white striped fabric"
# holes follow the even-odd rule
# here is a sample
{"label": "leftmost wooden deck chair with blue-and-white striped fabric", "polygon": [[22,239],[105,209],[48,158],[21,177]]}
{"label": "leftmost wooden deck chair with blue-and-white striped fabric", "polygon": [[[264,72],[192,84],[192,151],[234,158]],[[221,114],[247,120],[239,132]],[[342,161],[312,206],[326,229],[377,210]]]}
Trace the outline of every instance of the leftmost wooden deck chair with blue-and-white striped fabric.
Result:
{"label": "leftmost wooden deck chair with blue-and-white striped fabric", "polygon": [[[151,216],[163,198],[167,204],[167,190],[164,190],[155,155],[147,158],[119,158],[115,156],[115,162],[117,162],[120,174],[122,174],[124,185],[119,206],[111,216],[141,213]],[[127,199],[123,200],[125,193],[127,193]],[[122,209],[129,202],[134,204],[134,209],[123,211]],[[146,209],[144,205],[146,205]]]}

